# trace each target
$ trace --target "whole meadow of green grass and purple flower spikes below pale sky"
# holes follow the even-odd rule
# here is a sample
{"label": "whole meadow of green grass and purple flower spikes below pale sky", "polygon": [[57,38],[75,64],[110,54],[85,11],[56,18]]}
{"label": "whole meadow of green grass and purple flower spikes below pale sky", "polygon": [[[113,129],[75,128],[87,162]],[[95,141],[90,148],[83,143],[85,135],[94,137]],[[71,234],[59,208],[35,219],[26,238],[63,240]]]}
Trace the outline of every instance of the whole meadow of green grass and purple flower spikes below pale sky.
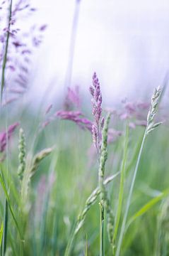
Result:
{"label": "whole meadow of green grass and purple flower spikes below pale sky", "polygon": [[[15,26],[19,11],[35,9],[6,3],[0,255],[169,255],[168,77],[150,99],[112,109],[91,70],[88,90],[67,86],[59,103],[33,107],[24,100],[31,48]],[[32,28],[33,47],[46,27]]]}

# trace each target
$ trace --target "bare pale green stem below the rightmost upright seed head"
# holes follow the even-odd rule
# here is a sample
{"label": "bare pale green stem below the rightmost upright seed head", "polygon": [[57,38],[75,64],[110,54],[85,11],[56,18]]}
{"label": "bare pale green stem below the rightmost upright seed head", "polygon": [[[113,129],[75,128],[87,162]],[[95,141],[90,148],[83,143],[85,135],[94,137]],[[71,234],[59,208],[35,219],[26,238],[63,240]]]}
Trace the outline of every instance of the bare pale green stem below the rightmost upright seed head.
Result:
{"label": "bare pale green stem below the rightmost upright seed head", "polygon": [[118,245],[117,245],[117,252],[115,254],[116,256],[120,255],[120,249],[121,249],[121,246],[122,246],[122,240],[123,240],[126,221],[127,221],[127,215],[128,215],[128,212],[129,212],[129,205],[130,205],[131,198],[132,198],[132,192],[133,192],[134,183],[135,183],[135,180],[136,180],[136,174],[137,174],[137,171],[138,171],[138,168],[139,168],[139,162],[140,162],[140,159],[141,159],[141,154],[142,154],[142,151],[143,151],[145,139],[146,139],[146,130],[144,132],[144,137],[143,137],[142,142],[141,142],[141,147],[140,147],[140,150],[139,150],[139,156],[138,156],[137,161],[136,161],[136,167],[135,167],[135,170],[134,170],[132,183],[131,183],[131,186],[130,186],[130,189],[129,189],[129,196],[127,198],[127,206],[126,206],[126,210],[125,210],[125,213],[124,213],[124,218],[123,218],[123,221],[122,221],[122,228],[121,228],[121,231],[120,231],[120,238],[119,238]]}

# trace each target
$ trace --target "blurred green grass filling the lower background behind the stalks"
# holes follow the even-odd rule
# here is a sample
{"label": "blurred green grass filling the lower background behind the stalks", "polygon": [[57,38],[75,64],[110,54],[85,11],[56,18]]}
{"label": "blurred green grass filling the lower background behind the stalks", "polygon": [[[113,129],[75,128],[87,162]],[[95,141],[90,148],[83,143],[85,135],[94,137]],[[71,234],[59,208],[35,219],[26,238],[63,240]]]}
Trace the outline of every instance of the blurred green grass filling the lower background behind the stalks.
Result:
{"label": "blurred green grass filling the lower background behind the stalks", "polygon": [[[17,115],[12,118],[17,119]],[[3,223],[5,198],[9,207],[6,252],[12,251],[13,255],[21,255],[21,241],[24,240],[23,255],[64,255],[78,215],[85,207],[87,198],[97,187],[97,160],[91,159],[92,164],[88,166],[88,157],[90,156],[88,156],[87,151],[91,146],[91,135],[78,129],[76,124],[71,124],[69,121],[56,121],[46,127],[42,134],[39,134],[32,147],[30,138],[34,134],[34,128],[29,123],[32,122],[33,117],[31,114],[27,116],[28,123],[25,123],[24,118],[20,119],[20,122],[24,126],[27,154],[36,157],[37,152],[40,152],[41,149],[51,148],[54,144],[55,149],[52,154],[49,154],[38,164],[35,175],[31,178],[28,197],[24,201],[25,210],[22,218],[21,181],[17,174],[19,132],[16,132],[13,138],[11,153],[8,154],[8,176],[6,176],[6,161],[1,163],[1,170],[8,184],[7,191],[4,178],[1,176],[1,223]],[[111,125],[116,124],[112,122]],[[108,195],[111,198],[111,208],[116,216],[115,227],[122,226],[126,210],[125,203],[122,202],[127,201],[127,191],[131,185],[141,143],[140,137],[142,137],[143,132],[144,128],[141,127],[134,130],[127,128],[126,135],[108,146],[105,177],[116,174],[117,171],[120,171],[119,166],[121,166],[120,175],[106,185]],[[164,139],[167,134],[168,128],[164,125],[148,135],[144,145],[127,223],[123,230],[122,255],[136,255],[136,253],[151,255],[152,252],[156,251],[156,232],[158,215],[161,212],[161,201],[168,196],[168,170],[166,169],[168,166],[168,143]],[[154,140],[154,136],[156,140]],[[159,147],[163,159],[159,156]],[[150,151],[150,149],[153,150]],[[34,157],[32,159],[35,160]],[[33,160],[31,162],[35,163]],[[51,172],[55,176],[53,183],[49,182]],[[42,176],[45,176],[45,183],[40,191]],[[149,191],[156,191],[157,194],[149,193]],[[69,255],[83,255],[85,253],[99,255],[98,203],[98,199],[95,198],[95,203],[92,203],[92,207],[87,211],[83,225],[72,241]],[[119,217],[117,218],[117,216]],[[105,226],[106,223],[107,218],[105,217]],[[147,226],[148,231],[145,231]],[[114,241],[117,245],[120,229],[116,229],[118,232],[114,233]],[[105,255],[111,255],[112,251],[106,231],[104,241]],[[1,246],[3,244],[4,242],[1,243]]]}

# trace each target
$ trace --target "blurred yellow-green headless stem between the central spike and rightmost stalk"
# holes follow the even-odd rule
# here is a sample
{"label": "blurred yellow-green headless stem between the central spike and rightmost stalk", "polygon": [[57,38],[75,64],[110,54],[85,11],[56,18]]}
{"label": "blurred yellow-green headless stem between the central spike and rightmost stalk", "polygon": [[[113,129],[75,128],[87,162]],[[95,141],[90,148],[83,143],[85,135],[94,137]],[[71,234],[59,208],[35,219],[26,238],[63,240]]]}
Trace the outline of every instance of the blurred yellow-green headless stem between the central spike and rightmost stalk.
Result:
{"label": "blurred yellow-green headless stem between the central spike and rightmost stalk", "polygon": [[126,161],[127,161],[127,147],[128,147],[128,137],[129,137],[129,125],[127,122],[126,126],[126,134],[124,139],[124,154],[122,159],[122,170],[120,173],[120,191],[119,191],[119,198],[118,198],[118,206],[117,206],[117,215],[115,219],[115,230],[113,235],[113,243],[115,244],[115,240],[117,238],[117,232],[120,223],[120,217],[122,213],[122,200],[124,196],[124,176],[125,176],[125,169],[126,169]]}

